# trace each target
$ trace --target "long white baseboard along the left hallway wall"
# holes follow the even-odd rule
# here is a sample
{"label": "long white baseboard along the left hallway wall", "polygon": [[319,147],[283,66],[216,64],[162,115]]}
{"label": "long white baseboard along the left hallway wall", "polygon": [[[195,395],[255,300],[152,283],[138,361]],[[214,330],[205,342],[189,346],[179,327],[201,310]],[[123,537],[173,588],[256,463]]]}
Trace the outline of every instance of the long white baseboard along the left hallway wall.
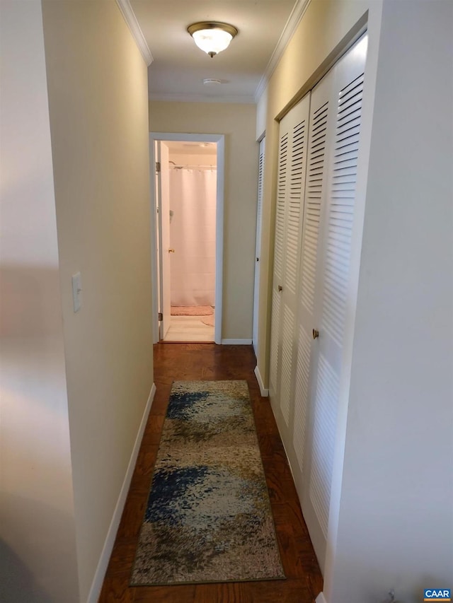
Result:
{"label": "long white baseboard along the left hallway wall", "polygon": [[137,438],[135,438],[134,447],[132,448],[132,454],[130,455],[130,461],[129,465],[127,466],[125,479],[122,482],[120,496],[118,496],[115,511],[113,512],[113,517],[108,528],[107,537],[105,538],[101,557],[99,558],[98,567],[96,568],[96,573],[94,574],[87,603],[96,603],[99,599],[99,595],[101,595],[101,588],[105,578],[105,572],[107,571],[108,561],[110,560],[110,555],[112,554],[113,544],[115,544],[115,538],[118,531],[118,526],[120,525],[122,510],[125,506],[130,481],[132,479],[132,474],[134,473],[135,463],[137,462],[137,456],[142,443],[144,428],[147,426],[149,411],[151,410],[151,404],[154,400],[154,394],[156,394],[156,385],[153,383],[151,392],[149,392],[147,405],[145,406],[143,412],[139,431],[137,432]]}

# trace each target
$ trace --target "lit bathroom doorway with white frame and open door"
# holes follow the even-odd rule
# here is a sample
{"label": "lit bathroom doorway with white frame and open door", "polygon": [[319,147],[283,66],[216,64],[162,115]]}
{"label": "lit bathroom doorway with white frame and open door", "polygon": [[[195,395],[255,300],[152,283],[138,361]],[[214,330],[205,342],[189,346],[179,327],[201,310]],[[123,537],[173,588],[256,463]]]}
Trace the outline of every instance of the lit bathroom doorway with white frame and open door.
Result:
{"label": "lit bathroom doorway with white frame and open door", "polygon": [[224,137],[150,134],[154,341],[222,341]]}

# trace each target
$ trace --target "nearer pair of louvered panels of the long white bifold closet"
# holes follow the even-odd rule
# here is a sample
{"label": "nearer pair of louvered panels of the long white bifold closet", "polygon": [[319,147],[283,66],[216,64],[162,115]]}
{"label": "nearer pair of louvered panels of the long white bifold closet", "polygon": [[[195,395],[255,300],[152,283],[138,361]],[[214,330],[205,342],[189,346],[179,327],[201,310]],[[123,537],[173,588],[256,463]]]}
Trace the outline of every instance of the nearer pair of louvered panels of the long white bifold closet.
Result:
{"label": "nearer pair of louvered panels of the long white bifold closet", "polygon": [[[366,49],[365,36],[340,59],[326,76],[326,81],[319,86],[319,90],[323,86],[331,88],[331,100],[323,164],[324,178],[320,191],[321,215],[314,303],[311,305],[314,310],[311,324],[309,312],[304,315],[303,324],[306,339],[311,336],[312,329],[319,331],[319,338],[311,342],[309,437],[302,508],[321,568],[326,556],[345,318],[348,304],[352,303],[348,298],[351,235]],[[312,103],[315,102],[317,93],[318,90],[313,91]],[[311,158],[316,146],[315,129],[310,143]],[[310,197],[310,191],[314,190],[319,189],[309,177],[307,195]],[[306,212],[306,236],[302,253],[302,307],[305,305],[305,298],[307,305],[311,303],[312,291],[309,211],[311,210]],[[299,349],[301,347],[303,345]],[[302,349],[302,357],[305,356],[306,352]]]}

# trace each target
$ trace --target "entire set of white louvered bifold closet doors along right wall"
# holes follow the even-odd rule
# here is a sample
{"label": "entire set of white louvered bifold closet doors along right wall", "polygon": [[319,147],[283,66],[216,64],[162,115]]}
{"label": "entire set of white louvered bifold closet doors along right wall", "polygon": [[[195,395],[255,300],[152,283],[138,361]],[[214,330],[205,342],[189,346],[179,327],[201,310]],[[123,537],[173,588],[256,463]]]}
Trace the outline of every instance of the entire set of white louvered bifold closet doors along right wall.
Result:
{"label": "entire set of white louvered bifold closet doors along right wall", "polygon": [[[340,380],[348,378],[345,322],[355,307],[349,286],[351,237],[366,51],[365,35],[280,122],[270,396],[321,569],[338,394]],[[288,166],[296,159],[286,141],[305,107],[306,177],[297,209],[300,253],[293,267],[294,185]]]}

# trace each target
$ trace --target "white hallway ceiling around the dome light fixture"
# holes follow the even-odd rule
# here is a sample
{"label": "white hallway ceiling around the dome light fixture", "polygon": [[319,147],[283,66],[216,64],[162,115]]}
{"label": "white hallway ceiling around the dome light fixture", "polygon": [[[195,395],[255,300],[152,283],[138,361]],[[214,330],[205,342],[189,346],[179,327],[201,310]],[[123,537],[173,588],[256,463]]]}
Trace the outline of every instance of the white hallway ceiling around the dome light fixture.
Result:
{"label": "white hallway ceiling around the dome light fixture", "polygon": [[[301,4],[300,0],[130,0],[154,59],[149,66],[150,98],[255,102],[263,74],[272,69],[273,53],[287,41]],[[211,59],[186,31],[196,21],[231,23],[239,34]],[[206,86],[204,78],[222,84]]]}

